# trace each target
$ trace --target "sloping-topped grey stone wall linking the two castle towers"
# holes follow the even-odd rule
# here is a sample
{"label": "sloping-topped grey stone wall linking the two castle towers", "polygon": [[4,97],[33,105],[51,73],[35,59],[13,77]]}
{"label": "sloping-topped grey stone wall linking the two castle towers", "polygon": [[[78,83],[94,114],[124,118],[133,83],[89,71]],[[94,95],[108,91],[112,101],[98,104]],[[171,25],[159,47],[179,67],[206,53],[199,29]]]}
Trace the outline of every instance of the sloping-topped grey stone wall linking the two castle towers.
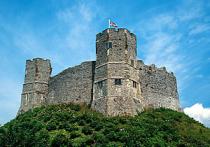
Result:
{"label": "sloping-topped grey stone wall linking the two castle towers", "polygon": [[86,103],[91,104],[95,62],[83,62],[68,68],[49,81],[48,104]]}

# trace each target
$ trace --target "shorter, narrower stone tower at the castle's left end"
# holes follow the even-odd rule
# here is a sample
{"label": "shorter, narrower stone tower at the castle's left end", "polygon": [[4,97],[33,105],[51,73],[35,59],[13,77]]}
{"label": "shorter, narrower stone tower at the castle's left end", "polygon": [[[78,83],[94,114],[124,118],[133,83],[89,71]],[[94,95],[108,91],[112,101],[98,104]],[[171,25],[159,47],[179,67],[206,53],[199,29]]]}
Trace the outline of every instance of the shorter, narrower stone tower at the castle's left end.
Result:
{"label": "shorter, narrower stone tower at the castle's left end", "polygon": [[26,61],[25,80],[18,113],[45,103],[51,74],[50,60],[35,58]]}

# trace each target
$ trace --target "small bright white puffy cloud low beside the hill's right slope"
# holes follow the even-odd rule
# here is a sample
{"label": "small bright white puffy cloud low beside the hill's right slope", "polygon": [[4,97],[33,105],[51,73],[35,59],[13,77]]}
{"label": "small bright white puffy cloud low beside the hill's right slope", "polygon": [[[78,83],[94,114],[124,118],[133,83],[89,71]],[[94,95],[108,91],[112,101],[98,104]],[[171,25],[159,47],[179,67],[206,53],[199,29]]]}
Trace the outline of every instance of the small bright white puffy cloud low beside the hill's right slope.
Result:
{"label": "small bright white puffy cloud low beside the hill's right slope", "polygon": [[186,107],[184,113],[210,127],[210,108],[204,108],[202,104],[196,103],[191,107]]}

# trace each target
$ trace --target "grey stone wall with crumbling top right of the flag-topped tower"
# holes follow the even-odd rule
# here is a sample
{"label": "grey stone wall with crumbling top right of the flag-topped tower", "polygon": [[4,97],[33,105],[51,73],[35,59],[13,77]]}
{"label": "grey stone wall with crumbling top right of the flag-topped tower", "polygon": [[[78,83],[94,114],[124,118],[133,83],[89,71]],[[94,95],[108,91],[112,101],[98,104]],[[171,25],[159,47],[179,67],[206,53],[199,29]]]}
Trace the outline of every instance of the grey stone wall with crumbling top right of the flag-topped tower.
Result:
{"label": "grey stone wall with crumbling top right of the flag-topped tower", "polygon": [[168,73],[165,67],[141,64],[139,77],[145,108],[165,107],[179,110],[177,84],[173,73]]}

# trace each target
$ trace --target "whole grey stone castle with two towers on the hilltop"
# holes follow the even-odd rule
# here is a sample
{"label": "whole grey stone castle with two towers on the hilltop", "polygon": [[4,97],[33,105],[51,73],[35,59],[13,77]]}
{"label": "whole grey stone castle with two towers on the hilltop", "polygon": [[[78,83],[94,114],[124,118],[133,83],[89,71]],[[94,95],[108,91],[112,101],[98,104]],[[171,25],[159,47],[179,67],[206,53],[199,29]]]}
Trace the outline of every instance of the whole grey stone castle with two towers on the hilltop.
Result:
{"label": "whole grey stone castle with two towers on the hilltop", "polygon": [[26,61],[18,114],[34,107],[85,103],[109,116],[135,115],[146,108],[180,110],[176,77],[165,67],[137,60],[136,36],[124,28],[96,35],[96,61],[51,77],[50,60]]}

